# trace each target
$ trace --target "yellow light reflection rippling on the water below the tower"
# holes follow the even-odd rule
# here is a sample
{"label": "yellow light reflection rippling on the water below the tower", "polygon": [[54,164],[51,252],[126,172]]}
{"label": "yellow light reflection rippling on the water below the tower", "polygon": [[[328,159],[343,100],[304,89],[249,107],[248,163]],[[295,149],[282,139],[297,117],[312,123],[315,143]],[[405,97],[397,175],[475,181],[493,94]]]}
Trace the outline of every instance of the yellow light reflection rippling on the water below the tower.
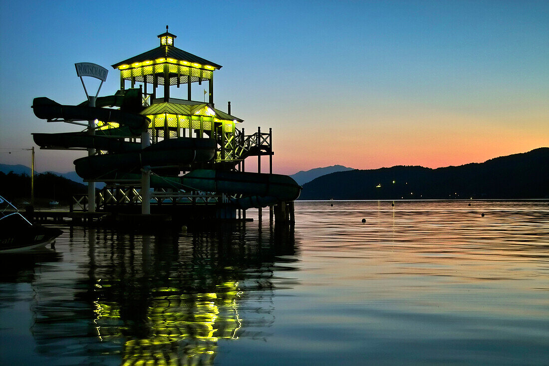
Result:
{"label": "yellow light reflection rippling on the water below the tower", "polygon": [[124,343],[124,365],[158,364],[161,360],[177,364],[181,357],[213,357],[216,342],[237,340],[237,332],[242,328],[237,299],[243,291],[238,282],[227,281],[216,287],[217,292],[194,294],[180,293],[182,290],[176,287],[152,289],[153,298],[147,309],[146,324],[150,329],[147,339],[126,340],[127,326],[122,323],[120,305],[94,301],[98,338]]}

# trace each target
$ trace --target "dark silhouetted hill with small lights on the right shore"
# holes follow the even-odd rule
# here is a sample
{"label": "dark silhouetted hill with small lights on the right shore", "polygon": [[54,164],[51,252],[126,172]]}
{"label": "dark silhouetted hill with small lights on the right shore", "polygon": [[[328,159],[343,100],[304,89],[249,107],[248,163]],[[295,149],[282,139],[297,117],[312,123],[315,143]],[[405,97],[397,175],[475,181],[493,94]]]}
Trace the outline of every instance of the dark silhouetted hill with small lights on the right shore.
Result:
{"label": "dark silhouetted hill with small lights on the right shore", "polygon": [[299,199],[549,198],[549,148],[459,167],[340,171],[303,186]]}

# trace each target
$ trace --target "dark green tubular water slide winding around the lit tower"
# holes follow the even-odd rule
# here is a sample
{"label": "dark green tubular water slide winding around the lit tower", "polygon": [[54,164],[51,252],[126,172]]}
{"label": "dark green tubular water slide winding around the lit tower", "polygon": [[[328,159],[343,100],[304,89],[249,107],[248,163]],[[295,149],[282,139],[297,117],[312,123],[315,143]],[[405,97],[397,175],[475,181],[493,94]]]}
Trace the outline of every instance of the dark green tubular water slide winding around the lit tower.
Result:
{"label": "dark green tubular water slide winding around the lit tower", "polygon": [[[138,90],[137,90],[138,91]],[[141,95],[134,90],[120,91],[114,96],[100,97],[97,107],[64,106],[49,98],[33,100],[36,117],[48,120],[92,120],[117,122],[120,128],[139,135],[147,130],[150,120],[138,114]],[[120,107],[109,109],[102,107]],[[128,112],[130,111],[131,112]],[[137,112],[137,113],[136,113]],[[85,132],[65,134],[33,134],[37,145],[49,148],[96,148],[108,151],[75,160],[76,173],[84,179],[130,179],[139,180],[139,170],[144,166],[153,168],[177,167],[190,163],[206,163],[214,159],[217,142],[214,138],[170,138],[141,148],[141,144],[120,138],[87,135]],[[233,204],[240,208],[266,207],[281,201],[294,201],[299,197],[301,186],[287,175],[196,169],[182,177],[151,176],[152,187],[181,188],[204,192],[240,195]]]}

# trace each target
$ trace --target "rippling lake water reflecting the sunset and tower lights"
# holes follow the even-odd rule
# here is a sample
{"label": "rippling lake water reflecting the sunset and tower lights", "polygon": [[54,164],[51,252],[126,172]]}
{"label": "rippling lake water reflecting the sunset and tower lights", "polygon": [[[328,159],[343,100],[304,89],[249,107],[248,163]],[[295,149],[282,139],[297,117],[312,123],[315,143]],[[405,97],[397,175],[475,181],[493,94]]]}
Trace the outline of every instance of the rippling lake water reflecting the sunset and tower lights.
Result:
{"label": "rippling lake water reflecting the sunset and tower lights", "polygon": [[265,213],[0,257],[0,364],[549,364],[547,201]]}

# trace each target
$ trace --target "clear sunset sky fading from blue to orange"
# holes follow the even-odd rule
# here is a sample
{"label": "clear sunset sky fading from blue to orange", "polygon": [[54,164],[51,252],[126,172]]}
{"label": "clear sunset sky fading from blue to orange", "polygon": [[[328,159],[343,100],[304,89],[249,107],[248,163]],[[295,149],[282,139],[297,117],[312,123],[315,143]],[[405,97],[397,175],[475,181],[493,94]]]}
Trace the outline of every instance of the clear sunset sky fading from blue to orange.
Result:
{"label": "clear sunset sky fading from blue to orange", "polygon": [[[3,1],[0,20],[0,163],[29,165],[5,149],[30,148],[31,132],[79,130],[30,108],[85,99],[74,63],[108,68],[111,95],[110,65],[157,47],[166,24],[176,47],[223,66],[216,108],[231,101],[249,132],[272,127],[275,173],[549,146],[547,1]],[[37,170],[84,155],[38,150]]]}

